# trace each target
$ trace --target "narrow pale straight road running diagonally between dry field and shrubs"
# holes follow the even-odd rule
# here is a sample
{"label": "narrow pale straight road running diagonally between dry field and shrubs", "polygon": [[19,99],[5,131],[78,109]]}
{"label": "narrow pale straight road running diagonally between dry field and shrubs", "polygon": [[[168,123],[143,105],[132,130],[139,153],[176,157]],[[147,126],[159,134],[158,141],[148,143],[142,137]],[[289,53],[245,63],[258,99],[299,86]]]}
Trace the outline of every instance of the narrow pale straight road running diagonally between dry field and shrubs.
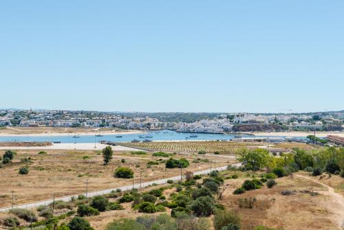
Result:
{"label": "narrow pale straight road running diagonally between dry field and shrubs", "polygon": [[[232,166],[235,166],[235,167],[239,167],[241,166],[241,163],[237,163],[237,164],[233,164]],[[227,165],[226,166],[222,166],[222,167],[216,167],[215,168],[216,170],[218,171],[224,171],[227,169]],[[214,171],[214,169],[212,169],[212,171]],[[206,169],[206,170],[203,170],[203,171],[195,171],[193,173],[193,175],[204,175],[204,174],[209,174],[211,172],[211,169]],[[183,176],[184,178],[184,176]],[[128,191],[128,190],[131,190],[133,188],[135,189],[140,189],[140,187],[148,187],[149,185],[153,185],[153,184],[156,184],[156,185],[163,185],[163,184],[166,184],[167,183],[167,180],[180,180],[180,176],[174,176],[174,177],[171,177],[171,178],[164,178],[164,179],[161,179],[161,180],[153,180],[153,181],[149,181],[149,182],[142,182],[142,184],[140,183],[137,183],[137,184],[134,184],[134,185],[126,185],[126,186],[122,186],[122,187],[115,187],[115,188],[111,188],[111,189],[104,189],[104,190],[99,190],[99,191],[90,191],[89,193],[87,194],[83,194],[87,197],[93,197],[93,196],[98,196],[98,195],[104,195],[104,194],[109,194],[111,193],[111,191],[116,191],[116,189],[120,189],[121,191]],[[61,197],[61,198],[55,198],[55,201],[57,200],[63,200],[65,202],[69,202],[72,200],[72,198],[75,198],[77,197],[78,195],[81,195],[81,194],[74,194],[72,196],[64,196],[64,197]],[[53,199],[50,199],[50,200],[41,200],[41,201],[38,201],[38,202],[31,202],[31,203],[27,203],[27,204],[23,204],[23,205],[14,205],[13,208],[18,208],[18,209],[31,209],[31,208],[34,208],[34,207],[39,207],[40,205],[49,205],[53,202]],[[12,209],[12,207],[3,207],[0,209],[0,211],[8,211]]]}

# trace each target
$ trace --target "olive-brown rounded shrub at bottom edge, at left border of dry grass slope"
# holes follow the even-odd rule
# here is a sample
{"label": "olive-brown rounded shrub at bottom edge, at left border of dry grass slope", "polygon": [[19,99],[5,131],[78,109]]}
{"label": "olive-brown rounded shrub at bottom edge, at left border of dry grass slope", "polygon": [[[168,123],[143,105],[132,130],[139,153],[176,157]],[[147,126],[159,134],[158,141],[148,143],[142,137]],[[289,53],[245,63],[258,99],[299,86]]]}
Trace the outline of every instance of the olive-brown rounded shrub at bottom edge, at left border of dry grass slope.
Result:
{"label": "olive-brown rounded shrub at bottom edge, at left border of dry grass slope", "polygon": [[236,224],[240,226],[240,216],[235,211],[217,209],[215,211],[213,222],[215,230],[222,230],[222,228],[228,226],[228,224]]}

